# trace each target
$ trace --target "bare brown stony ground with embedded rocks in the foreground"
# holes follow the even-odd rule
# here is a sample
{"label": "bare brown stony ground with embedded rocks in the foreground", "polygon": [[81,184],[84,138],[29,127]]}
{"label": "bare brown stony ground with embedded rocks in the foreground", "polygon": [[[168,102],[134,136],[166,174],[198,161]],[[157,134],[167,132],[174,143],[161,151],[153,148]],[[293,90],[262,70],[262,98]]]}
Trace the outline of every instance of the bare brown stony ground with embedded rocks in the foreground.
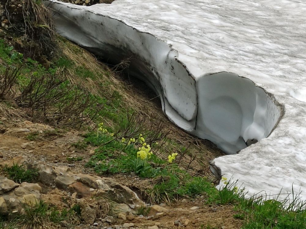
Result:
{"label": "bare brown stony ground with embedded rocks in the foreground", "polygon": [[[71,146],[82,138],[78,131],[59,133],[49,125],[22,120],[11,122],[5,118],[1,123],[0,165],[23,165],[37,168],[39,173],[36,183],[18,184],[5,174],[0,177],[2,213],[22,214],[24,204],[32,206],[44,200],[59,209],[80,206],[82,220],[71,228],[226,229],[239,228],[242,224],[233,218],[232,206],[204,205],[205,196],[181,199],[173,205],[150,205],[147,216],[137,215],[140,206],[149,206],[141,193],[152,186],[150,180],[120,174],[101,177],[84,168],[93,149],[80,152]],[[33,133],[39,133],[39,139],[28,140],[26,136]],[[84,158],[81,162],[67,161],[80,155]]]}

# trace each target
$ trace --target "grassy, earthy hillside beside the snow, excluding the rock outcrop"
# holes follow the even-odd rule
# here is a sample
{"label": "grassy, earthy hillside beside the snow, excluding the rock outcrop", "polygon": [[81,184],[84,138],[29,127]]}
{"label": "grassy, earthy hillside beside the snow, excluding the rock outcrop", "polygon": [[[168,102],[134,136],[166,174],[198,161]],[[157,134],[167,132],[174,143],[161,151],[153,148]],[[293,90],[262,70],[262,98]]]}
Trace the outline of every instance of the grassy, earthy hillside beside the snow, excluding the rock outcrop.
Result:
{"label": "grassy, earthy hillside beside the snow, excluding the rock outcrop", "polygon": [[[3,13],[3,5],[0,9]],[[52,166],[68,165],[75,173],[112,177],[145,202],[122,216],[114,210],[115,200],[103,196],[104,212],[101,219],[97,216],[101,227],[306,227],[304,202],[298,197],[292,203],[263,196],[246,198],[235,181],[216,178],[209,162],[222,156],[222,151],[170,123],[154,93],[124,74],[128,61],[107,66],[99,57],[56,35],[40,1],[14,0],[6,9],[15,13],[11,18],[3,14],[0,39],[3,176],[19,184],[37,182],[52,199],[56,188],[43,184],[37,163],[6,163],[14,156],[12,147],[19,147],[21,141],[32,142],[39,147],[28,144],[21,153],[17,151],[18,156],[44,156]],[[11,131],[27,122],[47,127],[22,135]],[[71,138],[68,147],[66,141]],[[56,141],[61,145],[53,146]],[[47,151],[47,147],[53,150]],[[215,188],[219,182],[224,184],[222,190]],[[62,202],[67,202],[65,207],[45,198],[25,204],[19,215],[2,211],[1,228],[95,228],[82,215],[83,205],[70,204],[72,193],[65,194],[69,197],[60,195]],[[94,195],[89,199],[102,201]],[[168,210],[152,213],[158,205]],[[107,221],[109,216],[117,221]]]}

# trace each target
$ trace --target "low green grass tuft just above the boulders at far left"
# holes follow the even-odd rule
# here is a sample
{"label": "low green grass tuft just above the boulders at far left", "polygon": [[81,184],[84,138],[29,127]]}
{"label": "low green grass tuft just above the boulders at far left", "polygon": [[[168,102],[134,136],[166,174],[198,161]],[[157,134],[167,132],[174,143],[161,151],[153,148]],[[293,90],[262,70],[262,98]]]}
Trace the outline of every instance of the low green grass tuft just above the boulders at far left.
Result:
{"label": "low green grass tuft just above the boulders at far left", "polygon": [[14,180],[16,183],[29,182],[37,180],[39,173],[38,169],[24,169],[23,166],[17,164],[12,167],[4,166],[3,171],[7,174],[9,179]]}

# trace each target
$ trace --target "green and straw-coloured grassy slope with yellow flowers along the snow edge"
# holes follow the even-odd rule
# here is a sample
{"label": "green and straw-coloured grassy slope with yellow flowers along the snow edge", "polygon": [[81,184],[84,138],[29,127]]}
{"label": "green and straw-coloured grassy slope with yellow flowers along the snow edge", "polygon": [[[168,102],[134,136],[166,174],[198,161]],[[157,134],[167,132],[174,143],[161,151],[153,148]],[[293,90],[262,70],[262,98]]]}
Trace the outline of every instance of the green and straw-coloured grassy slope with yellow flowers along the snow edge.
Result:
{"label": "green and straw-coloured grassy slope with yellow flowers along the snow edge", "polygon": [[[222,181],[225,188],[222,191],[216,190],[211,183],[213,177],[208,172],[208,160],[221,155],[219,151],[212,152],[203,141],[194,140],[174,125],[169,125],[162,112],[158,111],[158,105],[150,103],[148,100],[151,98],[141,94],[141,89],[137,87],[139,84],[133,85],[122,81],[108,67],[97,65],[89,53],[65,39],[58,38],[58,42],[62,52],[49,69],[45,69],[31,59],[24,60],[13,47],[0,42],[2,77],[7,67],[16,67],[23,63],[13,90],[7,93],[6,101],[1,102],[8,116],[14,115],[16,109],[21,109],[21,114],[24,116],[28,115],[34,120],[39,120],[41,117],[37,115],[41,112],[39,109],[18,107],[12,98],[20,95],[33,75],[38,78],[43,75],[57,75],[64,78],[59,89],[70,87],[69,93],[65,96],[67,100],[64,101],[72,101],[71,98],[76,94],[86,96],[82,93],[91,91],[90,103],[82,112],[85,114],[98,112],[92,122],[82,126],[86,132],[85,139],[76,147],[87,145],[97,147],[95,155],[86,164],[96,173],[104,175],[133,172],[143,178],[158,180],[159,182],[156,182],[151,190],[147,190],[149,203],[174,202],[176,198],[196,198],[197,195],[204,194],[205,205],[234,205],[237,213],[233,217],[244,220],[242,228],[306,227],[303,203],[296,201],[294,206],[288,206],[286,202],[266,201],[261,197],[247,200],[234,183],[226,180]],[[58,104],[53,106],[49,107],[52,111]],[[29,113],[29,109],[32,112]],[[56,124],[58,127],[73,126],[72,121],[78,119],[75,116],[76,114],[72,114],[65,119],[57,120]],[[51,119],[43,121],[54,124]],[[162,124],[158,125],[160,121]],[[103,126],[100,125],[99,130],[98,124],[101,122]],[[140,134],[143,134],[144,140]],[[131,141],[134,138],[135,142]],[[144,143],[151,145],[151,150],[148,152],[152,151],[153,155],[141,159],[137,157],[137,152],[141,151],[139,147]],[[148,149],[147,146],[144,147]],[[167,159],[172,153],[178,155],[170,163]],[[39,209],[44,207],[44,205],[39,206]],[[37,209],[29,209],[32,213],[35,210]],[[48,219],[56,223],[58,218],[64,218],[67,214],[58,213],[57,218]],[[203,228],[209,226],[203,225]]]}

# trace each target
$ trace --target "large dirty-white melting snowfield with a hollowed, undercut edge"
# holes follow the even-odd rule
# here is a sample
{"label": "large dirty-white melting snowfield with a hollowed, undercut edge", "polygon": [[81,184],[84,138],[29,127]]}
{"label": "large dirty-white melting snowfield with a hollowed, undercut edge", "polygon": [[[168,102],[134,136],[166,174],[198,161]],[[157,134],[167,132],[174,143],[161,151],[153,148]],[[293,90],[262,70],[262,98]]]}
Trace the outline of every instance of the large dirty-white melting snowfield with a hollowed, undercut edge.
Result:
{"label": "large dirty-white melting snowfield with a hollowed, undercut edge", "polygon": [[[54,1],[50,7],[63,36],[113,61],[132,56],[133,74],[146,76],[176,125],[228,153],[261,139],[216,158],[224,176],[239,179],[250,194],[290,192],[293,184],[306,199],[306,5],[274,3]],[[281,119],[274,97],[284,106]]]}

